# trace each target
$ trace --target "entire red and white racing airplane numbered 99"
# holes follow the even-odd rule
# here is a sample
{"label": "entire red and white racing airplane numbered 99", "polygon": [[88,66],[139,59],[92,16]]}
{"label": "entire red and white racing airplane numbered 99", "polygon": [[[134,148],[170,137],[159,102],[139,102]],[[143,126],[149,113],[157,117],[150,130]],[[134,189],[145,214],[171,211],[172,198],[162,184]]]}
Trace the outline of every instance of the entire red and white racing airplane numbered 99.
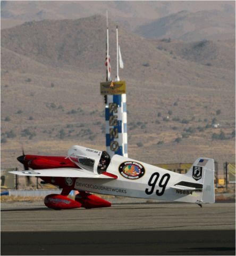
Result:
{"label": "entire red and white racing airplane numbered 99", "polygon": [[[214,160],[199,157],[186,174],[114,155],[106,151],[72,146],[67,157],[23,155],[18,160],[33,170],[11,171],[35,176],[62,188],[61,194],[45,197],[55,210],[109,207],[111,203],[94,194],[196,203],[215,202]],[[45,169],[46,168],[46,169]],[[74,200],[71,190],[79,191]]]}

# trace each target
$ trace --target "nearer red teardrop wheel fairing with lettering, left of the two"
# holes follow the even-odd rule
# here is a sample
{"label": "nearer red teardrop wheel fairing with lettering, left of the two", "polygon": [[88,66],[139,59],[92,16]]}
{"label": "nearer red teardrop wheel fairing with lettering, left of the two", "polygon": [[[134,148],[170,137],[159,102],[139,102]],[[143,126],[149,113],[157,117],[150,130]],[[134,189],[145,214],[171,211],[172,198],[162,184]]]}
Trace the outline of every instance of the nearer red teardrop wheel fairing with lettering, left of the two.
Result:
{"label": "nearer red teardrop wheel fairing with lettering, left of the two", "polygon": [[81,203],[63,195],[51,194],[44,198],[44,204],[55,210],[80,208]]}

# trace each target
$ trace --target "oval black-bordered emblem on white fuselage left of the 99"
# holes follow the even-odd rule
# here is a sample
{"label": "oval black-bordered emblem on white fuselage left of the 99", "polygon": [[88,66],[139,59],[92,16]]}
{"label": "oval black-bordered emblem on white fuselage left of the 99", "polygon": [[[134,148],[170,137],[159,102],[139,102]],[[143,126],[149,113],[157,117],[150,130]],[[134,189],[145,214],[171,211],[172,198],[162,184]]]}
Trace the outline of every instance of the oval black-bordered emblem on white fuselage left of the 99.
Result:
{"label": "oval black-bordered emblem on white fuselage left of the 99", "polygon": [[124,162],[119,166],[120,174],[127,179],[136,180],[144,176],[144,166],[137,162]]}

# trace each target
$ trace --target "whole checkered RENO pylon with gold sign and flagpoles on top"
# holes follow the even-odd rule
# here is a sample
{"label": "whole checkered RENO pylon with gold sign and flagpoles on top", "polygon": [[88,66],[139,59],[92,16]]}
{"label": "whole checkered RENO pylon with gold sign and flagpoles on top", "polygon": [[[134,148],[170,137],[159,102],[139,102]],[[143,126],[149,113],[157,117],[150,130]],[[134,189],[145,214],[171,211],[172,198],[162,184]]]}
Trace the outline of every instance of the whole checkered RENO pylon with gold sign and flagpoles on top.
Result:
{"label": "whole checkered RENO pylon with gold sign and flagpoles on top", "polygon": [[119,66],[123,68],[123,61],[118,43],[118,27],[116,26],[117,73],[115,81],[111,78],[108,17],[106,27],[106,82],[100,83],[100,92],[104,95],[106,104],[106,151],[111,157],[115,154],[128,157],[126,85],[125,81],[120,81],[119,78]]}

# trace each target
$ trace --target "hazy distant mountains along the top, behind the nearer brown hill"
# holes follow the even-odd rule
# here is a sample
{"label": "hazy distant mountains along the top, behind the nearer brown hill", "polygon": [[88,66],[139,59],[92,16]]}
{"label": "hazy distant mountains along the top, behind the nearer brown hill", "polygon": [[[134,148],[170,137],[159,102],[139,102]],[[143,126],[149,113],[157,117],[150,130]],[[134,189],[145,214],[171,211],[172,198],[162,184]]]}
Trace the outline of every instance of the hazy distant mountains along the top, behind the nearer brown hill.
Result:
{"label": "hazy distant mountains along the top, behind the nearer brown hill", "polygon": [[200,41],[235,35],[234,1],[1,1],[1,28],[26,21],[105,15],[106,10],[118,25],[148,38]]}

